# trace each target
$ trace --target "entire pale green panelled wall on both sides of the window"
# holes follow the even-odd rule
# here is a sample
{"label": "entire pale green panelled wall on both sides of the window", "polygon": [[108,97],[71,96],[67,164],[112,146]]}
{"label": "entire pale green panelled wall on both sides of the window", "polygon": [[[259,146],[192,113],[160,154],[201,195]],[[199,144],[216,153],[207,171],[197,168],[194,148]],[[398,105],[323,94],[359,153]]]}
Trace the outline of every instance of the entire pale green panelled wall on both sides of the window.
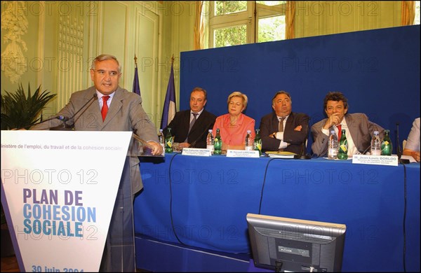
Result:
{"label": "entire pale green panelled wall on both sides of the window", "polygon": [[[8,2],[1,1],[2,13]],[[119,57],[123,67],[121,86],[131,90],[136,54],[143,106],[159,124],[174,55],[175,92],[180,109],[180,52],[194,48],[195,1],[20,3],[22,6],[13,13],[22,13],[28,21],[27,32],[20,37],[27,45],[22,55],[28,65],[16,83],[12,83],[2,69],[1,92],[14,92],[19,82],[25,88],[31,83],[32,89],[41,84],[43,90],[58,94],[44,111],[46,115],[53,115],[67,103],[72,92],[92,84],[91,59],[105,50]],[[401,1],[298,1],[295,36],[399,26],[400,4]],[[66,30],[72,27],[74,30]],[[80,38],[74,38],[72,31]],[[7,46],[5,33],[2,29],[2,53]],[[82,46],[77,54],[71,52],[70,46],[76,41]],[[63,43],[68,48],[63,49]],[[69,62],[68,55],[73,55],[73,62]]]}

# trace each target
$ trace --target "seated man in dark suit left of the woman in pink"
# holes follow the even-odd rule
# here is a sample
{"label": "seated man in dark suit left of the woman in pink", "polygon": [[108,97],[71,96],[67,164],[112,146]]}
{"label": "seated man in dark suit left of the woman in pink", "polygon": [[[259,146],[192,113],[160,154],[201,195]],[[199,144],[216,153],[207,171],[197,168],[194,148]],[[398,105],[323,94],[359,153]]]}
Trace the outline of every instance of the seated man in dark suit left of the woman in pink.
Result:
{"label": "seated man in dark suit left of the woman in pink", "polygon": [[171,123],[163,130],[164,136],[171,128],[174,142],[180,143],[180,148],[206,148],[208,130],[212,129],[216,119],[213,113],[204,109],[206,97],[206,90],[195,87],[190,93],[190,109],[175,113]]}

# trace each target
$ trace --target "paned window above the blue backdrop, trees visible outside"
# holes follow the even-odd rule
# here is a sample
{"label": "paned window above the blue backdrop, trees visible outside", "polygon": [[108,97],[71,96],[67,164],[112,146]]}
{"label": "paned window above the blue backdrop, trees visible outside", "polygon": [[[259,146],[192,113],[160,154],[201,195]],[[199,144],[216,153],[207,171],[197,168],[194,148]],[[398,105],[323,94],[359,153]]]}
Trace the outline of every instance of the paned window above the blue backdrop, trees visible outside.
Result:
{"label": "paned window above the blue backdrop, trees visible outside", "polygon": [[210,1],[209,48],[285,39],[286,1]]}

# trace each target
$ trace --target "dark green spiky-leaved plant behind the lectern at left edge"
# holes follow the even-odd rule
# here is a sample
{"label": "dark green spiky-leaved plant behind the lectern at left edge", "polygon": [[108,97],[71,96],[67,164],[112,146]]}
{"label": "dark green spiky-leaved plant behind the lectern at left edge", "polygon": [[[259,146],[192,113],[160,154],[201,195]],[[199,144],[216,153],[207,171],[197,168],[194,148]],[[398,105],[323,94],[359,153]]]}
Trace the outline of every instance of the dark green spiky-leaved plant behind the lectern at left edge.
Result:
{"label": "dark green spiky-leaved plant behind the lectern at left edge", "polygon": [[[27,94],[23,90],[22,83],[15,93],[5,90],[4,94],[1,94],[1,130],[28,128],[39,122],[41,111],[55,96],[56,94],[50,94],[47,90],[41,92],[41,85],[34,94],[31,94],[29,83]],[[13,254],[11,236],[8,232],[3,205],[1,205],[1,257]]]}

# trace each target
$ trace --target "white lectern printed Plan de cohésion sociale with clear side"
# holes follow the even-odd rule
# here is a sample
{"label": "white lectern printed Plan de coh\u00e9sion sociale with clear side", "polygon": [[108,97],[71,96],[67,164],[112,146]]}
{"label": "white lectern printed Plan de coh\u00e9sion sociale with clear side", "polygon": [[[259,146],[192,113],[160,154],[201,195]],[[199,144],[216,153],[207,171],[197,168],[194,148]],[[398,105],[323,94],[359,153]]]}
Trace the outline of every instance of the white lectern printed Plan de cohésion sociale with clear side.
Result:
{"label": "white lectern printed Plan de coh\u00e9sion sociale with clear side", "polygon": [[1,131],[1,202],[21,271],[98,272],[107,242],[113,271],[135,272],[131,136]]}

